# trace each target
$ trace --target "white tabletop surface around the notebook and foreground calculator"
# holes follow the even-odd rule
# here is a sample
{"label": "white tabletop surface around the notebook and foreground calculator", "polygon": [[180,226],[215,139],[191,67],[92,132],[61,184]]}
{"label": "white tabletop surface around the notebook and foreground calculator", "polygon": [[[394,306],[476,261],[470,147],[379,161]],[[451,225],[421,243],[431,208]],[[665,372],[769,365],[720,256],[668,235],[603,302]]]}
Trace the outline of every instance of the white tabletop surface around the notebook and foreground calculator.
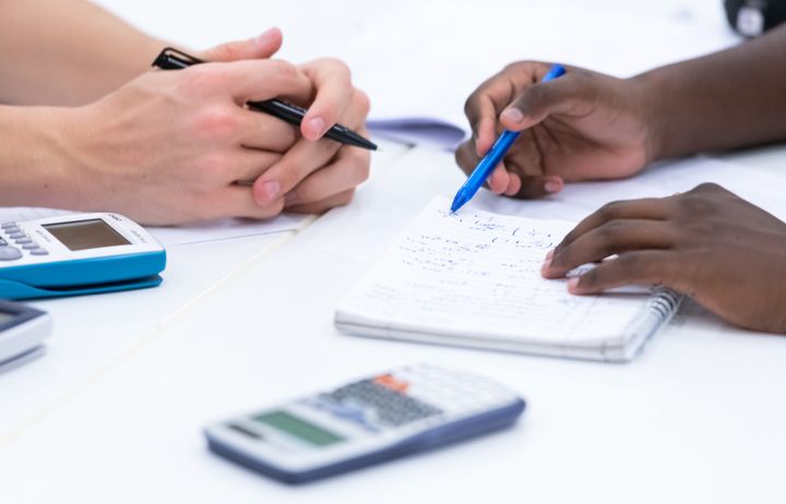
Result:
{"label": "white tabletop surface around the notebook and foreground calculator", "polygon": [[[424,157],[430,169],[415,171]],[[783,146],[725,157],[786,173]],[[36,303],[57,328],[46,356],[0,374],[2,502],[786,500],[781,337],[690,308],[635,361],[610,365],[336,333],[343,292],[460,180],[450,155],[385,145],[356,201],[295,237],[175,248],[159,289]],[[233,413],[420,360],[492,376],[528,409],[509,431],[306,488],[217,458],[201,436]]]}

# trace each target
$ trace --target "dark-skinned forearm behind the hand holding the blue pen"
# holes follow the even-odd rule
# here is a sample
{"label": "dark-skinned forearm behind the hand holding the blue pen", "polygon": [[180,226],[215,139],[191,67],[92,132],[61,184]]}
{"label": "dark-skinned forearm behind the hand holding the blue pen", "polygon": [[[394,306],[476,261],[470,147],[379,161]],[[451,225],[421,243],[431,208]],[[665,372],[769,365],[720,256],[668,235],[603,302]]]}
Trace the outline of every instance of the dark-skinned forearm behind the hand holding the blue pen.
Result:
{"label": "dark-skinned forearm behind the hand holding the blue pen", "polygon": [[632,82],[646,99],[654,158],[786,140],[786,26]]}

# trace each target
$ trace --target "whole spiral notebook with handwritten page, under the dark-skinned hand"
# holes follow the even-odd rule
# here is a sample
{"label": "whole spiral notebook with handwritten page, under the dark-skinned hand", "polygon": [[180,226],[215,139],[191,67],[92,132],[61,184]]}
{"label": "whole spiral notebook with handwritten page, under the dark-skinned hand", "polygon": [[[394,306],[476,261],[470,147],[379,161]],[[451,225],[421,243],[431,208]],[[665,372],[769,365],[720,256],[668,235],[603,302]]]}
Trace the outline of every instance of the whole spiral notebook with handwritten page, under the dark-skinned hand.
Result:
{"label": "whole spiral notebook with handwritten page, under the dark-skinned hand", "polygon": [[678,310],[662,287],[573,296],[540,276],[574,224],[450,213],[436,197],[340,303],[347,334],[525,353],[628,361]]}

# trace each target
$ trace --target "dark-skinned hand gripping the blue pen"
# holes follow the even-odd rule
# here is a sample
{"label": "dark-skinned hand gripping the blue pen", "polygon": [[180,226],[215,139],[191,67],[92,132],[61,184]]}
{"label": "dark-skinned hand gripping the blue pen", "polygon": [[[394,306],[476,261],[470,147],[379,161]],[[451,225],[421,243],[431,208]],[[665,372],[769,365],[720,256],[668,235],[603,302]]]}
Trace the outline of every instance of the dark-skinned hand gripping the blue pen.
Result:
{"label": "dark-skinned hand gripping the blue pen", "polygon": [[522,131],[488,180],[498,194],[539,197],[564,182],[630,177],[655,156],[652,121],[643,87],[565,67],[567,73],[539,83],[550,64],[508,65],[467,99],[473,137],[456,151],[467,173],[503,129]]}

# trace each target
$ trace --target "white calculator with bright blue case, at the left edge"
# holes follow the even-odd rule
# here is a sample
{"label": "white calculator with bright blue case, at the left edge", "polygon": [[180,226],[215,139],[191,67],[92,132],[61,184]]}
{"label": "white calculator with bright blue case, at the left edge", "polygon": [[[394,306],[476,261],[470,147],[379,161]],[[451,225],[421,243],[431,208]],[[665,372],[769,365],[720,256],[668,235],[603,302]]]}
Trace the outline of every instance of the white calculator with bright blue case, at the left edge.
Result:
{"label": "white calculator with bright blue case, at the left edge", "polygon": [[0,223],[0,298],[155,287],[165,266],[164,247],[119,214]]}

